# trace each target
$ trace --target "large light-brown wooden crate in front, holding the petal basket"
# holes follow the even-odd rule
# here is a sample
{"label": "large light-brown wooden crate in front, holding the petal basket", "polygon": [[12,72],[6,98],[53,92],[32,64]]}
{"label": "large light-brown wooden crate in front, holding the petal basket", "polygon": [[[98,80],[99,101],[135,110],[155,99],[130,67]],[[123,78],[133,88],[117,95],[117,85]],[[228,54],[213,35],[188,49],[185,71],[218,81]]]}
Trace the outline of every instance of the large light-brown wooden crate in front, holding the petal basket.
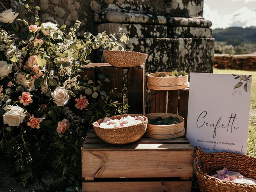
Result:
{"label": "large light-brown wooden crate in front, holding the petal basket", "polygon": [[190,192],[193,152],[187,138],[111,145],[89,130],[82,146],[83,192]]}

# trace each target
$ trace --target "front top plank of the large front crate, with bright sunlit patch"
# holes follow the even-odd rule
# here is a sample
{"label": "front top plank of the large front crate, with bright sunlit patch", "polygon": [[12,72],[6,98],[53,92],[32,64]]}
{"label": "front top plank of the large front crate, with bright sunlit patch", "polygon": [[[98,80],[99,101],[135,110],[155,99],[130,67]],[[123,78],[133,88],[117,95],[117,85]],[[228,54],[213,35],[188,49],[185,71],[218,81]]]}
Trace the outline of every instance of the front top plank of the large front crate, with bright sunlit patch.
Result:
{"label": "front top plank of the large front crate, with bright sunlit patch", "polygon": [[194,150],[194,148],[190,144],[131,143],[125,145],[113,145],[107,143],[95,143],[83,144],[81,150]]}

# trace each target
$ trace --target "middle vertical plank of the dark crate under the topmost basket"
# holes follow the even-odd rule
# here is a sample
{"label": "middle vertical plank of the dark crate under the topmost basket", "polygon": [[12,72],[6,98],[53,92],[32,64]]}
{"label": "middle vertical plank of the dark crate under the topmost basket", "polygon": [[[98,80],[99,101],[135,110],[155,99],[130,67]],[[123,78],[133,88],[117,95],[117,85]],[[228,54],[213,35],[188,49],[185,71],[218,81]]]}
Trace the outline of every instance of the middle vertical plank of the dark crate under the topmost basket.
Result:
{"label": "middle vertical plank of the dark crate under the topmost basket", "polygon": [[[122,76],[122,68],[116,68],[112,66],[104,66],[99,67],[98,74],[103,74],[106,76],[106,78],[110,79],[110,82],[105,82],[104,86],[102,87],[102,90],[106,91],[106,93],[110,92],[112,89],[115,92],[122,93],[123,90],[123,76]],[[99,80],[99,79],[98,79]]]}

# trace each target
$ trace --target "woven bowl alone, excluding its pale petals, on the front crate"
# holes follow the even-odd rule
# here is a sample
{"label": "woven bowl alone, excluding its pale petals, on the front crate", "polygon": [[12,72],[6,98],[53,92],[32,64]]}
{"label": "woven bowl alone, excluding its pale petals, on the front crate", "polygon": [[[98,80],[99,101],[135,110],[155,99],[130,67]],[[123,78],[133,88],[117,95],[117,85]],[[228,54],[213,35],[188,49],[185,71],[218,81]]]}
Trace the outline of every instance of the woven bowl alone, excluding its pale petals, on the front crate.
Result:
{"label": "woven bowl alone, excluding its pale petals, on the front crate", "polygon": [[[125,114],[125,115],[116,115],[110,117],[110,119],[120,119],[122,117],[127,117],[128,115],[134,117],[139,116],[139,114]],[[143,115],[140,115],[143,116]],[[144,122],[140,124],[121,127],[121,128],[102,128],[100,126],[96,126],[94,122],[93,128],[98,135],[98,137],[104,142],[110,144],[128,144],[139,140],[142,135],[145,133],[148,123],[148,118],[144,117]],[[98,120],[98,124],[102,123],[103,119]]]}

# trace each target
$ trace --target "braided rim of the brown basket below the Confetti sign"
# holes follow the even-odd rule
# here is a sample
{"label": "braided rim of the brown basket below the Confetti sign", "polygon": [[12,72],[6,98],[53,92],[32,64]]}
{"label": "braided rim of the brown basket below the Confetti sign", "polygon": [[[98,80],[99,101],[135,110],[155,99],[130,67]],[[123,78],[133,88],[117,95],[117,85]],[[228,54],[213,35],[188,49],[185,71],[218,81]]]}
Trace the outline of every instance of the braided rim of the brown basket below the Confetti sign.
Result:
{"label": "braided rim of the brown basket below the Confetti sign", "polygon": [[[198,165],[198,160],[197,160],[197,159],[201,158],[200,153],[207,155],[207,153],[205,153],[201,150],[200,146],[195,146],[195,148],[194,148],[194,169],[195,169],[195,172],[197,172],[197,174],[200,174],[201,176],[204,176],[205,178],[207,178],[209,180],[212,180],[214,182],[220,182],[222,184],[229,184],[229,185],[234,185],[234,186],[240,185],[240,186],[244,186],[244,187],[249,186],[249,187],[253,187],[253,188],[256,186],[254,184],[236,183],[236,182],[232,182],[232,181],[220,180],[216,177],[210,176],[207,173],[202,172],[201,166]],[[216,155],[218,155],[218,154],[225,154],[225,155],[226,154],[232,154],[232,155],[240,156],[240,157],[246,156],[248,158],[254,158],[254,157],[249,156],[249,155],[235,154],[235,153],[232,153],[232,152],[214,152],[214,153],[211,153],[211,154],[216,154]]]}

